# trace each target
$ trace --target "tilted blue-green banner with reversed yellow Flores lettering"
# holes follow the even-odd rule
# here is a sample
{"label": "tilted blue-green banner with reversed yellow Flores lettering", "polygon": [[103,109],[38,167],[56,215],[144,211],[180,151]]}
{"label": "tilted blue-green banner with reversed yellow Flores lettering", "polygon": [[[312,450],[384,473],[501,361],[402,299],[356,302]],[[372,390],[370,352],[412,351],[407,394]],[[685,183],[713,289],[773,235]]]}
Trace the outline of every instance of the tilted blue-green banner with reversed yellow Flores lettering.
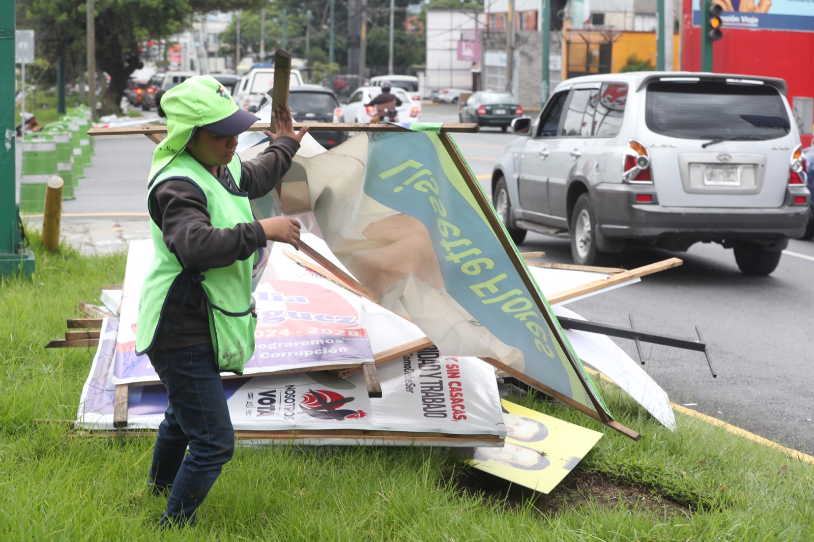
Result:
{"label": "tilted blue-green banner with reversed yellow Flores lettering", "polygon": [[494,358],[596,412],[593,382],[439,134],[362,133],[295,157],[292,170],[284,181],[307,180],[330,250],[385,308],[409,315],[442,352]]}

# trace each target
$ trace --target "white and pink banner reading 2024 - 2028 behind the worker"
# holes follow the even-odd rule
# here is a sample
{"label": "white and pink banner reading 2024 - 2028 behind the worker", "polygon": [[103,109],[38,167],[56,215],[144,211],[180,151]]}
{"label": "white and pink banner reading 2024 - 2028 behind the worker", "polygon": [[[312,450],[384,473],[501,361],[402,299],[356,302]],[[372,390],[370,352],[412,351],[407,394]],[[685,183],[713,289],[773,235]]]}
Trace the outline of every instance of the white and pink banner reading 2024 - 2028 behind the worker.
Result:
{"label": "white and pink banner reading 2024 - 2028 behind the worker", "polygon": [[[318,239],[313,239],[315,243]],[[255,353],[244,374],[300,369],[339,369],[373,361],[361,322],[361,298],[296,264],[274,243],[254,292]],[[291,249],[293,250],[293,249]],[[158,382],[147,356],[135,355],[138,299],[152,258],[150,239],[130,243],[120,309],[114,383]]]}

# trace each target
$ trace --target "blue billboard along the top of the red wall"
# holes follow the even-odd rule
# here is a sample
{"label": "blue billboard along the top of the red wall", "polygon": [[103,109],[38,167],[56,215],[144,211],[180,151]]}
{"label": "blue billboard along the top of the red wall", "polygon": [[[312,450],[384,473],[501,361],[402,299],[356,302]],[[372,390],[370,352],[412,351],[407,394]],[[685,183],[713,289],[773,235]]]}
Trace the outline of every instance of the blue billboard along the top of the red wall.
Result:
{"label": "blue billboard along the top of the red wall", "polygon": [[[722,27],[814,32],[814,2],[809,0],[713,0],[724,9]],[[693,2],[693,25],[701,26],[702,2]]]}

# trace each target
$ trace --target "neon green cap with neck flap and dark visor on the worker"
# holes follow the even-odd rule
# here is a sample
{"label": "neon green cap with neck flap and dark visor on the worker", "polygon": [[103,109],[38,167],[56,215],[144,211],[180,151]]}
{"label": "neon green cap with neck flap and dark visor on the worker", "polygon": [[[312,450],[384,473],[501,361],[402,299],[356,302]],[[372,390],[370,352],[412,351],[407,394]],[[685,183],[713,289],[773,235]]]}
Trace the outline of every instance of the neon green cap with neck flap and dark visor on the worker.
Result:
{"label": "neon green cap with neck flap and dark visor on the worker", "polygon": [[192,76],[161,97],[167,116],[167,138],[153,152],[150,183],[186,148],[195,129],[236,136],[260,118],[244,111],[229,91],[212,76]]}

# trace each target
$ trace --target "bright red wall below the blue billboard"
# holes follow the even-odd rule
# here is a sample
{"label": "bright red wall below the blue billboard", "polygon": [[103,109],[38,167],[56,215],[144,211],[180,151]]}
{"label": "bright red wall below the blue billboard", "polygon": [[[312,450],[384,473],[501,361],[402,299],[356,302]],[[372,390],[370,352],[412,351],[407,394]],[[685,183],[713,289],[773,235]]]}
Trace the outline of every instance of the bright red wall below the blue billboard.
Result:
{"label": "bright red wall below the blue billboard", "polygon": [[[681,69],[701,71],[701,28],[692,22],[692,5],[684,0],[684,35]],[[723,28],[724,37],[712,44],[712,71],[743,75],[780,77],[789,86],[789,103],[794,96],[814,98],[814,32],[745,30]],[[803,146],[812,144],[804,135]]]}

